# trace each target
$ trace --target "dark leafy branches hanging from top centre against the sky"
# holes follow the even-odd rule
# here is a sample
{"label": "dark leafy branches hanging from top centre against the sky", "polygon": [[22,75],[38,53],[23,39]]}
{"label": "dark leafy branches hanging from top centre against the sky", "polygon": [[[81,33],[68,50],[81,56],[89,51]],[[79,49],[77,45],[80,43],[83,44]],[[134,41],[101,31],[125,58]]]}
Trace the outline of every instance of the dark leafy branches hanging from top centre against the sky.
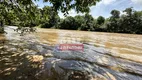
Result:
{"label": "dark leafy branches hanging from top centre against the sky", "polygon": [[96,5],[100,0],[44,0],[53,4],[54,9],[68,13],[69,10],[75,9],[77,12],[89,12],[90,6]]}

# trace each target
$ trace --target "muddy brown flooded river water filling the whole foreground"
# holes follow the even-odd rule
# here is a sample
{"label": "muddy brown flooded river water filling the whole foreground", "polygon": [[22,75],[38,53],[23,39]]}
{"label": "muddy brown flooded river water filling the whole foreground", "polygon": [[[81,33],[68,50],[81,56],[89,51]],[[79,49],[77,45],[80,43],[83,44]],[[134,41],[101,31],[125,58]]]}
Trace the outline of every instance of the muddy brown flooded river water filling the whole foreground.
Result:
{"label": "muddy brown flooded river water filling the whole foreground", "polygon": [[[0,80],[142,80],[142,35],[37,29],[0,35]],[[84,44],[84,51],[55,50]]]}

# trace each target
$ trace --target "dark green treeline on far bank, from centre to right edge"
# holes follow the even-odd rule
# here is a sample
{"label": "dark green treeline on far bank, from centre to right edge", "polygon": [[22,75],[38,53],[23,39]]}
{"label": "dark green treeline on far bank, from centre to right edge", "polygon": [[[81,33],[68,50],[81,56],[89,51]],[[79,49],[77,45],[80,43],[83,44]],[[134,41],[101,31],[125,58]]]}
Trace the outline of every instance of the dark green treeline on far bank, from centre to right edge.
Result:
{"label": "dark green treeline on far bank, from centre to right edge", "polygon": [[[132,8],[125,9],[123,15],[120,11],[112,10],[111,16],[105,19],[99,16],[94,19],[91,15],[66,17],[60,19],[57,24],[50,27],[69,30],[103,31],[116,33],[142,34],[142,11],[135,11]],[[48,27],[49,26],[42,26]]]}

